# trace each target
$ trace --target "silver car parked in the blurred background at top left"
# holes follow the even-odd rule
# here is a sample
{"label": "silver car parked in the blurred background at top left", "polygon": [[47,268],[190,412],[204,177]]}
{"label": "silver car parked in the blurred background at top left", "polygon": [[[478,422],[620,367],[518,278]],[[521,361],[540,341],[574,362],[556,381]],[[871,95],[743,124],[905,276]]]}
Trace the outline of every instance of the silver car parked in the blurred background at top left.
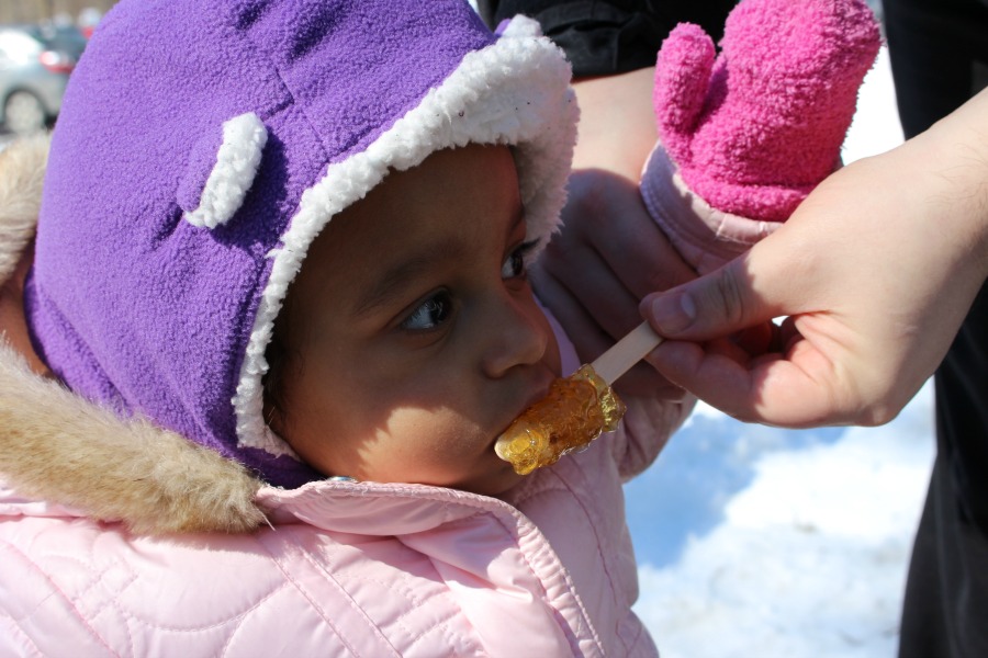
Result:
{"label": "silver car parked in the blurred background at top left", "polygon": [[50,125],[85,48],[75,25],[0,25],[0,125],[15,134]]}

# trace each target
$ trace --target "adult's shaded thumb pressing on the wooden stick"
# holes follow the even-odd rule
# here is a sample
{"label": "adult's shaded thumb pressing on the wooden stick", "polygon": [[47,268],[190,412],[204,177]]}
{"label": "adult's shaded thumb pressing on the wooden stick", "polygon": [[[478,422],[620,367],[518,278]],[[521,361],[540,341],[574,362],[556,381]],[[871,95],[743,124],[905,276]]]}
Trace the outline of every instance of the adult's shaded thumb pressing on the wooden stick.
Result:
{"label": "adult's shaded thumb pressing on the wooden stick", "polygon": [[660,336],[691,341],[726,337],[787,315],[778,300],[755,290],[750,256],[751,252],[739,257],[689,283],[647,295],[641,302],[641,315]]}

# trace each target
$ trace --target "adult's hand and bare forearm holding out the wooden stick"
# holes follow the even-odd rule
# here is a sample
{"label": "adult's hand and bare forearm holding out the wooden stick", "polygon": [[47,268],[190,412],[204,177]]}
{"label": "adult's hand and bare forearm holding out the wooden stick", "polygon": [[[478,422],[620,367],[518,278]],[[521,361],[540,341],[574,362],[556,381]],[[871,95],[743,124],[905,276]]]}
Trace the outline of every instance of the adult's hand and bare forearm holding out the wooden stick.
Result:
{"label": "adult's hand and bare forearm holding out the wooden stick", "polygon": [[[642,315],[675,339],[649,360],[743,420],[883,423],[940,364],[986,275],[988,91],[831,175],[749,253],[647,296]],[[778,350],[723,340],[781,316]]]}

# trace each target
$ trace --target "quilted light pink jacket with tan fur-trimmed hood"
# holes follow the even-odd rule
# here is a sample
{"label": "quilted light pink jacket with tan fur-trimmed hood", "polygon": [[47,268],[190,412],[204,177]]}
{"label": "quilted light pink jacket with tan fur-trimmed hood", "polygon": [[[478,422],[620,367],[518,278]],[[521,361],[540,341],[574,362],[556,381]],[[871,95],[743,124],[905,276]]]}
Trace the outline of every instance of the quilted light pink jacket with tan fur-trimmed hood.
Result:
{"label": "quilted light pink jacket with tan fur-trimmed hood", "polygon": [[688,405],[629,400],[621,431],[507,501],[265,486],[21,358],[10,327],[44,148],[0,162],[0,656],[656,654],[631,612],[621,483]]}

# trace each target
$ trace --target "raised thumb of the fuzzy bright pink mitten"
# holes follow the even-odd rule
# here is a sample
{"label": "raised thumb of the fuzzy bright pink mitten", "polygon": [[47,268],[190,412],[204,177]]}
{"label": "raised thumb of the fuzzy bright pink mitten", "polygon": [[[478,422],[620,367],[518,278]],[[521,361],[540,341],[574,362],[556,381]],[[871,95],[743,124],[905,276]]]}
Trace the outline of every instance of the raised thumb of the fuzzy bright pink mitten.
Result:
{"label": "raised thumb of the fuzzy bright pink mitten", "polygon": [[659,135],[676,162],[689,160],[689,144],[707,98],[716,49],[704,30],[680,23],[662,42],[652,103]]}

